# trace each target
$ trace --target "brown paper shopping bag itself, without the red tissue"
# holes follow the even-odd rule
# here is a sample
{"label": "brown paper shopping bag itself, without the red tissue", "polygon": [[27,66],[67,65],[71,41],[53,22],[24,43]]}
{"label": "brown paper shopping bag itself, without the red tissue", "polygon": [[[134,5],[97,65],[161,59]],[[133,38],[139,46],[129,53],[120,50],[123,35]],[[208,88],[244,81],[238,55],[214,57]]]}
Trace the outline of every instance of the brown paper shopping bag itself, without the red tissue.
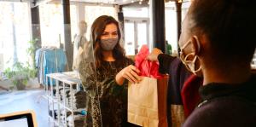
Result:
{"label": "brown paper shopping bag itself, without the red tissue", "polygon": [[128,122],[143,127],[166,127],[168,79],[143,77],[139,84],[128,84]]}

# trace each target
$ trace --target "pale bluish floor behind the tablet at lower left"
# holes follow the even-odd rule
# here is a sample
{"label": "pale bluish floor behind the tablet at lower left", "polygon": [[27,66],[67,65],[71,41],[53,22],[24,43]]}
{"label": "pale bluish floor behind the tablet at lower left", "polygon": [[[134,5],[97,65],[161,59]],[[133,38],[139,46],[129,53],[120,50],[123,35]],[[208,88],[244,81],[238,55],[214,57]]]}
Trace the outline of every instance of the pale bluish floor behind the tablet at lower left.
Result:
{"label": "pale bluish floor behind the tablet at lower left", "polygon": [[33,110],[36,113],[38,127],[49,127],[47,100],[44,89],[0,92],[0,114]]}

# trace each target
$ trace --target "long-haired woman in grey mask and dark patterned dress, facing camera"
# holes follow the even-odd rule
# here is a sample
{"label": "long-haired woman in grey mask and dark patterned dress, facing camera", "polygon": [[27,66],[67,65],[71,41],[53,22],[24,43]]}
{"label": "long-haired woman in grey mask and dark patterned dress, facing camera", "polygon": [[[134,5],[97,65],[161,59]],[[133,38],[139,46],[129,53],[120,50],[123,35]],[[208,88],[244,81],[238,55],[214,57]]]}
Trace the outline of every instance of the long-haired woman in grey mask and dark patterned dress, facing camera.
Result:
{"label": "long-haired woman in grey mask and dark patterned dress, facing camera", "polygon": [[120,46],[119,23],[102,15],[91,26],[90,42],[79,65],[87,93],[86,126],[119,127],[127,123],[127,81],[139,82],[139,70]]}

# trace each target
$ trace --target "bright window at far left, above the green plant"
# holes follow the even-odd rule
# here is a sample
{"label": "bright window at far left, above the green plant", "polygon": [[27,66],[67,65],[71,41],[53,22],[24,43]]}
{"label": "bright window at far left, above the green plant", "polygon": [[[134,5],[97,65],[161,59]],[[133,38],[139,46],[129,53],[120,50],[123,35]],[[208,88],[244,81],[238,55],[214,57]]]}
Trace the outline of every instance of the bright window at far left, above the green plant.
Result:
{"label": "bright window at far left, above the green plant", "polygon": [[0,71],[14,61],[25,63],[31,38],[28,3],[0,2]]}

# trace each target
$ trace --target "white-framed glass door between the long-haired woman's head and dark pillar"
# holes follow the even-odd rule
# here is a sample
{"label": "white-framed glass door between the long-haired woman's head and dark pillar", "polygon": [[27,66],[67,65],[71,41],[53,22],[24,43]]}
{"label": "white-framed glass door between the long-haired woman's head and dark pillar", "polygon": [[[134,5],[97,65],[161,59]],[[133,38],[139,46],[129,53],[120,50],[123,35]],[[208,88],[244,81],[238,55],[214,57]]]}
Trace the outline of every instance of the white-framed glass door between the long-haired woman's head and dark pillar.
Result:
{"label": "white-framed glass door between the long-haired woman's head and dark pillar", "polygon": [[148,7],[125,7],[125,52],[136,55],[143,44],[149,45],[149,10]]}

